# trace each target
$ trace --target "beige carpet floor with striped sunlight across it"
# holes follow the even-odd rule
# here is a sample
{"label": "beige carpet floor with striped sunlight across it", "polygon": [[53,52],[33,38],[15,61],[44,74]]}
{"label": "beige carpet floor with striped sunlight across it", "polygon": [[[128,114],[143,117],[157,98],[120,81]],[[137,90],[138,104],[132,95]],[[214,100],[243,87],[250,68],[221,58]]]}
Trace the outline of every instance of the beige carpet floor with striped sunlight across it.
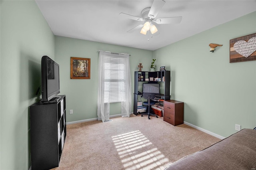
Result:
{"label": "beige carpet floor with striped sunlight across it", "polygon": [[162,117],[140,115],[67,126],[60,166],[54,170],[163,170],[220,139]]}

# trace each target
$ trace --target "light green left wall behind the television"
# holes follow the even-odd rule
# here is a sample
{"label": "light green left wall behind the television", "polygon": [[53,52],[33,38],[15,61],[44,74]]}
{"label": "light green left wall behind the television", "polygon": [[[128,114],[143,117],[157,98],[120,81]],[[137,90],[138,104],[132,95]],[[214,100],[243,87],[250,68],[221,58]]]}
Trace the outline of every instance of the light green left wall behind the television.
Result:
{"label": "light green left wall behind the television", "polygon": [[28,107],[41,84],[41,57],[54,57],[54,35],[34,1],[0,1],[1,170],[28,170]]}

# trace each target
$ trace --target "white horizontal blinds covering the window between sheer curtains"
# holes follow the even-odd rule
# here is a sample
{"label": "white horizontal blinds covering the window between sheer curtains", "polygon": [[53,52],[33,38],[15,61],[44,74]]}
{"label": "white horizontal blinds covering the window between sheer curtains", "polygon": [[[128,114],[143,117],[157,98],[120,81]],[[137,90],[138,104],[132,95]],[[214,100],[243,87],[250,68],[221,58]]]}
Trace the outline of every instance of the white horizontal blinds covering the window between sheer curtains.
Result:
{"label": "white horizontal blinds covering the window between sheer curtains", "polygon": [[104,55],[103,58],[103,73],[105,77],[104,103],[121,102],[125,100],[122,91],[125,91],[126,88],[126,58],[114,56],[115,54],[110,55]]}

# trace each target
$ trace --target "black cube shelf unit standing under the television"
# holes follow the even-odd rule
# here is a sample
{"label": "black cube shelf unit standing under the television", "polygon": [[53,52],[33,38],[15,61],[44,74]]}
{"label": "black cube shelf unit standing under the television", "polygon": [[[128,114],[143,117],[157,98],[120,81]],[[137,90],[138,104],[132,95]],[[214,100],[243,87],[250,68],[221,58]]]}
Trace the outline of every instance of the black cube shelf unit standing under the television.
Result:
{"label": "black cube shelf unit standing under the television", "polygon": [[66,138],[66,96],[60,96],[57,103],[30,106],[32,170],[59,166]]}

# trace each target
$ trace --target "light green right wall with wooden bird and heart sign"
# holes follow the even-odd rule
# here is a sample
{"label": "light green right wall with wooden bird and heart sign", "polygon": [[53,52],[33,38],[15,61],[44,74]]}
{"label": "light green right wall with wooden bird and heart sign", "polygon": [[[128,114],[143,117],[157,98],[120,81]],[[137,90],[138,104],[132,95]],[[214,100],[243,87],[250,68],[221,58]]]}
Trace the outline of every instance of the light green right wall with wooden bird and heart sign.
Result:
{"label": "light green right wall with wooden bird and heart sign", "polygon": [[[184,121],[227,137],[256,127],[256,61],[229,63],[229,40],[256,33],[256,12],[154,51],[172,70],[172,99]],[[209,43],[223,44],[210,52]]]}

